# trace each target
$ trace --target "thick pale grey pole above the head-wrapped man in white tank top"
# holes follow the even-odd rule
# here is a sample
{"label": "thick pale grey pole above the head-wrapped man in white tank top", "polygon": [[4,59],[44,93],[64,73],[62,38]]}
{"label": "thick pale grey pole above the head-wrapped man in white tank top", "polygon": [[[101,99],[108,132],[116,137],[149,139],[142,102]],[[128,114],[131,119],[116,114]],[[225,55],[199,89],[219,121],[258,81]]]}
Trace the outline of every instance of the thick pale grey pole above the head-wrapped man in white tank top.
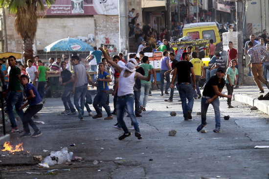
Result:
{"label": "thick pale grey pole above the head-wrapped man in white tank top", "polygon": [[124,57],[128,56],[129,37],[128,37],[128,17],[126,0],[119,0],[119,51]]}

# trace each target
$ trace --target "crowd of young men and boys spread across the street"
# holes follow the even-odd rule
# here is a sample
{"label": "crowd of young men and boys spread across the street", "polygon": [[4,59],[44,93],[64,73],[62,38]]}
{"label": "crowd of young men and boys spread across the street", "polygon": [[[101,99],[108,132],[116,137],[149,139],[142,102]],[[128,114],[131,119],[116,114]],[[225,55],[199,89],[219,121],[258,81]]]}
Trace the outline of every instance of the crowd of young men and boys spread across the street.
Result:
{"label": "crowd of young men and boys spread across the street", "polygon": [[[265,39],[259,39],[259,44],[255,44],[257,42],[254,39],[254,35],[251,35],[250,40],[246,42],[245,53],[250,57],[248,66],[260,93],[264,93],[261,82],[266,84],[268,88],[269,82],[266,75],[263,78],[263,74],[267,72],[264,72],[262,63],[267,71],[269,68],[269,43],[265,47]],[[173,102],[176,86],[179,91],[184,120],[192,119],[194,99],[201,99],[202,123],[198,126],[197,131],[201,131],[207,124],[206,112],[211,103],[214,107],[216,120],[213,131],[220,132],[220,102],[218,97],[227,98],[227,107],[233,108],[231,95],[233,89],[238,86],[238,54],[231,41],[229,41],[228,47],[227,62],[222,58],[224,56],[222,48],[220,51],[216,51],[216,47],[214,47],[215,54],[212,55],[209,68],[206,70],[204,70],[199,47],[194,47],[194,50],[191,46],[187,47],[186,51],[183,51],[178,58],[179,60],[173,52],[169,53],[165,48],[160,47],[163,48],[163,57],[160,60],[160,96],[169,95],[169,98],[164,101]],[[136,118],[142,117],[142,111],[146,111],[152,86],[151,75],[153,75],[153,84],[156,84],[155,69],[149,64],[149,58],[144,55],[143,51],[139,52],[139,58],[136,57],[136,54],[130,54],[129,60],[124,60],[121,53],[116,54],[116,48],[113,49],[112,53],[112,55],[109,54],[107,45],[104,44],[99,49],[94,47],[94,50],[85,60],[80,59],[77,54],[73,54],[70,59],[71,64],[69,64],[66,55],[63,55],[63,60],[61,58],[57,58],[56,61],[54,58],[49,59],[49,70],[60,71],[60,78],[57,82],[64,86],[62,101],[65,111],[62,114],[76,115],[78,112],[78,118],[84,120],[84,117],[87,116],[84,113],[84,107],[86,107],[88,115],[96,119],[103,118],[102,108],[104,108],[107,113],[105,120],[113,119],[113,115],[116,115],[117,123],[113,127],[124,131],[124,134],[119,137],[120,140],[132,135],[129,130],[135,130],[135,137],[142,139]],[[47,77],[44,63],[39,60],[38,56],[35,56],[33,61],[27,60],[27,67],[24,70],[24,66],[16,61],[15,57],[10,56],[7,61],[8,70],[6,70],[3,60],[0,60],[0,68],[4,89],[3,98],[6,101],[6,112],[11,122],[11,129],[8,133],[19,132],[13,111],[15,106],[18,116],[22,119],[23,134],[21,137],[40,136],[42,133],[31,118],[42,109],[45,95],[49,90],[49,86],[46,86]],[[91,61],[95,63],[91,63]],[[87,73],[84,64],[88,62],[91,64],[91,71],[97,72],[95,75],[90,76]],[[70,72],[71,68],[74,75]],[[172,75],[171,81],[170,74]],[[8,79],[5,79],[6,76]],[[202,80],[204,78],[205,82]],[[166,80],[165,87],[164,79]],[[109,101],[111,82],[113,85],[112,95],[114,96],[113,111],[111,111]],[[92,88],[97,87],[97,94],[93,100],[89,85]],[[199,85],[202,88],[199,88]],[[45,86],[47,87],[46,91]],[[224,86],[227,88],[228,95],[222,93]],[[202,93],[200,89],[203,89]],[[72,93],[74,94],[74,105],[71,100]],[[94,107],[95,115],[90,110],[89,104]],[[23,112],[22,109],[27,106],[28,108]],[[133,127],[130,129],[126,127],[124,122],[126,113],[132,121]],[[28,124],[34,130],[33,135]]]}

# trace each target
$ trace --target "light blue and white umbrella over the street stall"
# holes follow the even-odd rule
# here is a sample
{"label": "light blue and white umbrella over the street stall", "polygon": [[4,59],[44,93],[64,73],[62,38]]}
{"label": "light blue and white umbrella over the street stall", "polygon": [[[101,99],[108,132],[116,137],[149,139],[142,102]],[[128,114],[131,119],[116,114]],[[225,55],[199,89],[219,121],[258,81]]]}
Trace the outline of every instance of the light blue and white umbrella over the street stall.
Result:
{"label": "light blue and white umbrella over the street stall", "polygon": [[44,52],[50,51],[93,51],[93,48],[81,40],[66,38],[57,40],[44,48]]}

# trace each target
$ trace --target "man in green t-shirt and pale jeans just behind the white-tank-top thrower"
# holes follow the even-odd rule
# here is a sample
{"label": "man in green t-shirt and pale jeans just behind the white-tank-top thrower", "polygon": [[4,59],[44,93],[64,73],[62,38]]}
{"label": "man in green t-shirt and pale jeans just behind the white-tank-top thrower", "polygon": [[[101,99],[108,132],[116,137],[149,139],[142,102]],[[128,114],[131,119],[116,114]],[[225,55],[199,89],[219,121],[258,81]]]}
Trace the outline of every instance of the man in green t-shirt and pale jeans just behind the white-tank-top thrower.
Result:
{"label": "man in green t-shirt and pale jeans just behind the white-tank-top thrower", "polygon": [[[147,56],[143,56],[141,58],[142,64],[140,64],[139,66],[142,67],[145,71],[145,77],[148,76],[148,71],[152,70],[152,74],[153,74],[153,85],[156,84],[156,72],[153,68],[152,65],[149,64],[149,58]],[[150,91],[150,87],[151,87],[151,81],[145,81],[145,80],[141,80],[141,89],[140,89],[140,99],[139,99],[139,113],[141,113],[142,111],[146,111],[146,105],[148,102],[148,97],[149,97],[149,91]]]}

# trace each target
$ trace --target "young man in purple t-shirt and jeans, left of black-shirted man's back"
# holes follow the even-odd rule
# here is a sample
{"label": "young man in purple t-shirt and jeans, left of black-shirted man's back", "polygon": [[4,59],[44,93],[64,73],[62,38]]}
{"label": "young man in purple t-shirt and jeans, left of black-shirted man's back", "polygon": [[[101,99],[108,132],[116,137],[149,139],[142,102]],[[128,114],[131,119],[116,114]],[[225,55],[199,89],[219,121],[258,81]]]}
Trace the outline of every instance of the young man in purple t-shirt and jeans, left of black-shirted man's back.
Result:
{"label": "young man in purple t-shirt and jeans, left of black-shirted man's back", "polygon": [[169,64],[169,57],[168,57],[168,52],[164,51],[162,53],[163,58],[161,58],[160,62],[160,96],[163,96],[163,84],[164,84],[164,77],[166,80],[166,86],[165,86],[165,94],[169,95],[168,93],[168,88],[170,86],[170,74],[166,73],[167,71],[171,70],[170,64]]}

